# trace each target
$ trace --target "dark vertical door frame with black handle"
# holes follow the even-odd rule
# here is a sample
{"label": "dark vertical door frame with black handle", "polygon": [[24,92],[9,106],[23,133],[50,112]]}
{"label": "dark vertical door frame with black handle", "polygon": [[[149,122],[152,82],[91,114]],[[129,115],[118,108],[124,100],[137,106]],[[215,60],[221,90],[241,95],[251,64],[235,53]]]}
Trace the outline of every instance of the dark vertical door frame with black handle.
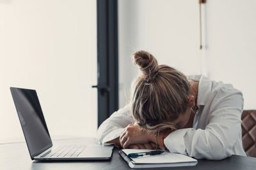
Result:
{"label": "dark vertical door frame with black handle", "polygon": [[118,110],[117,0],[97,0],[98,127]]}

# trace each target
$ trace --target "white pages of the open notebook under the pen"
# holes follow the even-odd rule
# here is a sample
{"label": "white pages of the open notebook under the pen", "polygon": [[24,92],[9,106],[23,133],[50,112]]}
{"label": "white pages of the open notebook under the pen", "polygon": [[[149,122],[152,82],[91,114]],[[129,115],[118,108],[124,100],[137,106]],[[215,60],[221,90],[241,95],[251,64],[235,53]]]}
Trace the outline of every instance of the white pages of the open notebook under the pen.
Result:
{"label": "white pages of the open notebook under the pen", "polygon": [[[123,150],[127,155],[129,153],[149,152],[152,150]],[[146,155],[143,157],[131,158],[136,164],[164,164],[164,163],[180,163],[180,162],[196,162],[196,159],[182,155],[179,153],[164,152],[159,155]]]}

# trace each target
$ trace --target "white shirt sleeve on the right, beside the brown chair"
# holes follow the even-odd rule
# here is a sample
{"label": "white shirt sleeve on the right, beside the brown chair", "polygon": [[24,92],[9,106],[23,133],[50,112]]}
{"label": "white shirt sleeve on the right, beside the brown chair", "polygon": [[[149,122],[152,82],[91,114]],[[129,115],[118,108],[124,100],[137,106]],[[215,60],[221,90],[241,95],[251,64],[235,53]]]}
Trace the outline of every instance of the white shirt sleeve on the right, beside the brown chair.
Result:
{"label": "white shirt sleeve on the right, beside the brown chair", "polygon": [[205,129],[179,129],[164,139],[164,145],[170,152],[212,160],[232,155],[232,147],[237,138],[241,138],[243,94],[236,89],[222,89],[214,98],[218,100],[212,104]]}

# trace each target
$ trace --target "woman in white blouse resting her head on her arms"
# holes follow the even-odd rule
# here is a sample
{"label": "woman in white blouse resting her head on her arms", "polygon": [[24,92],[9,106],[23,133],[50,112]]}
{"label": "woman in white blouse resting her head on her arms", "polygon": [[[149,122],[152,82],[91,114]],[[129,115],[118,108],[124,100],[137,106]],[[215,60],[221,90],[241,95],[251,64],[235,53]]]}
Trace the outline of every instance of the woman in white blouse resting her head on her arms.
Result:
{"label": "woman in white blouse resting her head on her arms", "polygon": [[246,155],[241,139],[243,94],[205,76],[188,78],[158,65],[148,52],[133,55],[141,76],[131,103],[111,115],[98,130],[99,143],[122,148],[166,148],[196,159]]}

